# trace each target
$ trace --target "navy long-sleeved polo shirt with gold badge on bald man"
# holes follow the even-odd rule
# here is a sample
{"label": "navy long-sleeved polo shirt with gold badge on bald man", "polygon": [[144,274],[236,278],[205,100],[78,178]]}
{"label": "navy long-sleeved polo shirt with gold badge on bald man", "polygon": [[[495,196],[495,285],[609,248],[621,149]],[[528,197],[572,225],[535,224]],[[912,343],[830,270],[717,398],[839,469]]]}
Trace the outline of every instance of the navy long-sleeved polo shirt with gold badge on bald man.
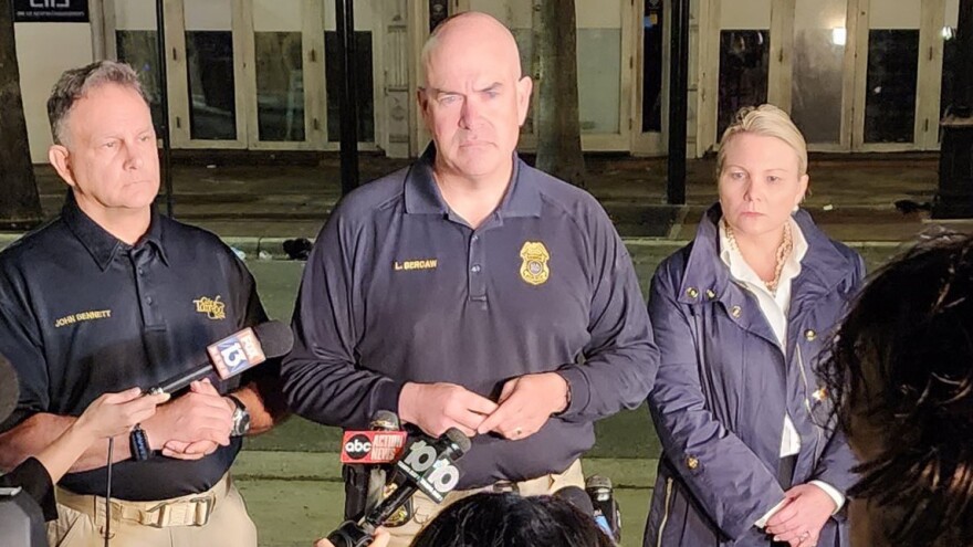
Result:
{"label": "navy long-sleeved polo shirt with gold badge on bald man", "polygon": [[473,230],[440,196],[435,150],[349,194],[322,230],[294,313],[284,391],[295,411],[359,429],[398,410],[406,381],[496,400],[504,381],[559,371],[572,401],[520,441],[478,435],[459,487],[564,471],[593,421],[645,400],[658,367],[631,259],[587,192],[515,159]]}

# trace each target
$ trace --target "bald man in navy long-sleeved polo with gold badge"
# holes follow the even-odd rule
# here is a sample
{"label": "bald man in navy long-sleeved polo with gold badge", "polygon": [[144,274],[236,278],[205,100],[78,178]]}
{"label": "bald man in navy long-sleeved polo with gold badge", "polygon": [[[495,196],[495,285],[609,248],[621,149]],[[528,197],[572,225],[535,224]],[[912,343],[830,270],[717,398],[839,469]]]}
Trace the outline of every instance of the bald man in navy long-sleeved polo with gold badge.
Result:
{"label": "bald man in navy long-sleeved polo with gold badge", "polygon": [[[532,83],[506,28],[451,18],[422,65],[433,145],[318,235],[284,392],[323,423],[363,429],[391,410],[475,435],[464,491],[582,486],[593,422],[645,400],[658,366],[631,260],[594,198],[517,159]],[[436,511],[420,496],[394,545]]]}

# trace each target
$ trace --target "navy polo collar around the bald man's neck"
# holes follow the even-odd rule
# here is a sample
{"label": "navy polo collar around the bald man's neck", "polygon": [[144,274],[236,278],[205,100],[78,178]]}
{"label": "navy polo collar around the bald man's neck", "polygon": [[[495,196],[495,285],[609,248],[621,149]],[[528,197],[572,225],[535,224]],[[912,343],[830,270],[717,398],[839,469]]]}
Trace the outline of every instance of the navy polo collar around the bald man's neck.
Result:
{"label": "navy polo collar around the bald man's neck", "polygon": [[[406,213],[449,214],[449,206],[442,199],[432,173],[435,162],[436,145],[430,143],[406,175]],[[541,215],[541,191],[531,180],[531,171],[532,169],[514,152],[511,182],[496,210],[500,217]]]}

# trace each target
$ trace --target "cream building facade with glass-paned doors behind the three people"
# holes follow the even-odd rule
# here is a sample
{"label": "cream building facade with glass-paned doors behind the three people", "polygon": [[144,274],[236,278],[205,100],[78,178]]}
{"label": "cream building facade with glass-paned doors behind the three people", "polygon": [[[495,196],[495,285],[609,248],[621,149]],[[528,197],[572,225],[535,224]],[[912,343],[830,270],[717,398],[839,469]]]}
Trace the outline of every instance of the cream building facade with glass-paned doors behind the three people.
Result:
{"label": "cream building facade with glass-paned doors behind the three people", "polygon": [[[71,3],[18,3],[62,1]],[[51,140],[51,86],[94,59],[130,63],[161,122],[155,0],[84,3],[88,22],[14,25],[35,162],[46,161]],[[532,73],[533,3],[355,0],[359,148],[406,157],[428,141],[415,105],[417,61],[430,27],[449,13],[504,21]],[[584,149],[665,155],[670,0],[575,3]],[[174,148],[337,149],[333,0],[165,0],[163,9]],[[763,102],[791,112],[812,150],[938,149],[958,13],[959,0],[691,0],[689,155],[718,147],[733,112]],[[535,146],[534,126],[524,127],[524,150]]]}

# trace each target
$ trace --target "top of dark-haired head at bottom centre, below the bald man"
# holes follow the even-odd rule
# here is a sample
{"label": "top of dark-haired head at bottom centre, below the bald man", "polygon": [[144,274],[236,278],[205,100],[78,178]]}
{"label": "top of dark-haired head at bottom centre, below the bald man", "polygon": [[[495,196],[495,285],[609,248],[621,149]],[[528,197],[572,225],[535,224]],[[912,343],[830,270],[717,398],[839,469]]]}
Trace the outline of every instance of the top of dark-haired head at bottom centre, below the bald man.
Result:
{"label": "top of dark-haired head at bottom centre, below the bald man", "polygon": [[590,515],[566,499],[475,494],[440,513],[412,547],[610,547]]}

